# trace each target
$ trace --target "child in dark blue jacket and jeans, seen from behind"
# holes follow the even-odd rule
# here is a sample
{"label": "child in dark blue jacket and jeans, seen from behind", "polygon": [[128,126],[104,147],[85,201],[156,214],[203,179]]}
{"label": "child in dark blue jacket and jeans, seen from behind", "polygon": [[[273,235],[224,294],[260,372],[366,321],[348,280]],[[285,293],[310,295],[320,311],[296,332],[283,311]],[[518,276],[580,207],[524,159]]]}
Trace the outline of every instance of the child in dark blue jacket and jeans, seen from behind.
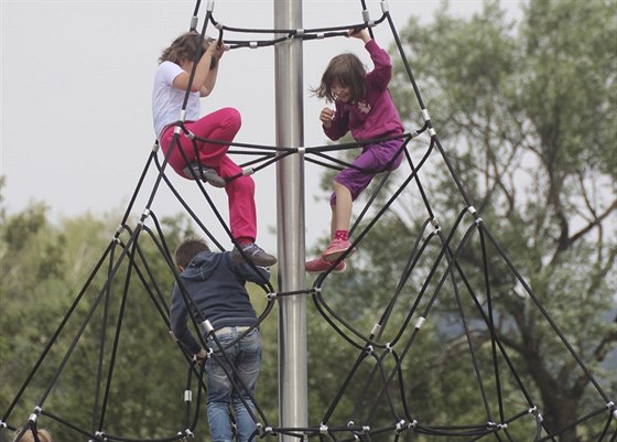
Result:
{"label": "child in dark blue jacket and jeans, seen from behind", "polygon": [[[207,414],[213,442],[229,442],[232,438],[229,406],[236,416],[238,441],[246,442],[256,430],[256,422],[245,403],[251,407],[252,396],[261,367],[261,337],[255,309],[245,288],[247,281],[264,283],[270,271],[264,267],[236,262],[230,252],[213,252],[202,239],[186,239],[175,250],[175,261],[181,271],[180,279],[193,304],[209,321],[218,342],[225,348],[230,367],[215,343],[212,334],[206,344],[214,353],[205,360],[207,376]],[[170,312],[171,328],[180,343],[198,359],[207,355],[205,348],[187,327],[188,310],[177,281],[174,284]],[[240,334],[250,332],[227,348]],[[225,367],[225,369],[224,369]],[[232,374],[234,388],[227,373]],[[248,390],[248,391],[247,391]]]}

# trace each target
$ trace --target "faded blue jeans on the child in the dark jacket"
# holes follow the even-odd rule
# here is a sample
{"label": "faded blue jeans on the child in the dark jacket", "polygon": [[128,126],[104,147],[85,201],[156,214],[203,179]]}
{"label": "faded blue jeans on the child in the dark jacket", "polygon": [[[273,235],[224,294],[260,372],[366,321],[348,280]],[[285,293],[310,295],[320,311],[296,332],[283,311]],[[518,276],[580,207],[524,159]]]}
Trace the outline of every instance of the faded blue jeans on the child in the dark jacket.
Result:
{"label": "faded blue jeans on the child in the dark jacket", "polygon": [[[237,327],[227,328],[229,328],[229,332],[218,332],[216,335],[223,347],[226,347],[241,334]],[[234,369],[229,367],[214,338],[209,338],[207,345],[214,349],[214,354],[206,360],[205,367],[207,375],[206,385],[208,388],[208,424],[210,427],[212,440],[213,442],[232,441],[234,433],[231,431],[229,409],[229,406],[231,406],[236,416],[238,441],[247,442],[256,429],[256,422],[249,414],[242,399],[251,408],[255,416],[255,405],[251,397],[255,394],[255,384],[261,368],[261,337],[259,330],[253,328],[232,347],[225,351]],[[234,384],[225,373],[226,370],[229,373],[229,376],[234,377],[239,390],[234,388]]]}

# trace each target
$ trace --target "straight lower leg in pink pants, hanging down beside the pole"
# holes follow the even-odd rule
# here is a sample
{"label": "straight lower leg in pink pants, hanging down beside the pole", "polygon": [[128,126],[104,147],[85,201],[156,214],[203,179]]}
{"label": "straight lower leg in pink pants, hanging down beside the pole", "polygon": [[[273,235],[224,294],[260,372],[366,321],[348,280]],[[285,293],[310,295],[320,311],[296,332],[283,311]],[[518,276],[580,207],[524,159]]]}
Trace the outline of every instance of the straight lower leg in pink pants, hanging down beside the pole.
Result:
{"label": "straight lower leg in pink pants, hanging down beside the pole", "polygon": [[[228,177],[240,173],[242,169],[229,157],[224,155],[219,162],[219,174]],[[250,176],[231,180],[225,186],[229,204],[229,228],[231,235],[240,242],[255,242],[257,237],[257,208],[255,205],[255,181]]]}

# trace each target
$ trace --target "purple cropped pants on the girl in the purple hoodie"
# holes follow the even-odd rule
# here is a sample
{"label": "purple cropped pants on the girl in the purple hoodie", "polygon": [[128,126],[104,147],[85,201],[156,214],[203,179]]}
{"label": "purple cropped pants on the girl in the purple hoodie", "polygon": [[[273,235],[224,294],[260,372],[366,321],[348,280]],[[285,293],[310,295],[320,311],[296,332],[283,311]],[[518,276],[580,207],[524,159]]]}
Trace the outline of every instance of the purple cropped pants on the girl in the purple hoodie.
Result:
{"label": "purple cropped pants on the girl in the purple hoodie", "polygon": [[[386,165],[397,154],[402,140],[388,140],[375,144],[367,144],[364,147],[362,152],[354,160],[351,164],[360,168],[361,171],[354,168],[345,168],[334,177],[334,180],[343,184],[351,193],[351,200],[356,198],[368,187],[372,177],[383,172]],[[397,157],[388,170],[393,171],[403,161],[402,152]],[[336,205],[336,194],[332,194],[329,205]]]}

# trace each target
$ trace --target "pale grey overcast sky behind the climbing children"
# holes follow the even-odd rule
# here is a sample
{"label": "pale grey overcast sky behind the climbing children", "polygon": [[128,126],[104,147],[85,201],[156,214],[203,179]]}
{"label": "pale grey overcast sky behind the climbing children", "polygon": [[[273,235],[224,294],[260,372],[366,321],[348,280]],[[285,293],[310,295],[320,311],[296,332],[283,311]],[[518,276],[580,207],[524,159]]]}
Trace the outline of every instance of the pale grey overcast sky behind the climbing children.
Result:
{"label": "pale grey overcast sky behind the climbing children", "polygon": [[[42,202],[52,219],[118,214],[128,207],[154,142],[151,91],[161,51],[188,30],[195,1],[184,0],[0,0],[2,67],[0,87],[0,175],[9,214]],[[202,2],[197,29],[206,14]],[[520,0],[502,0],[512,17],[520,15]],[[218,0],[214,18],[228,26],[272,29],[273,1]],[[359,0],[304,0],[303,28],[327,28],[362,21]],[[379,1],[367,0],[370,19],[381,17]],[[398,32],[411,15],[427,22],[437,0],[394,0],[388,3]],[[452,0],[448,10],[470,17],[481,0]],[[393,41],[388,25],[374,29],[382,47]],[[217,35],[208,26],[208,34]],[[229,34],[231,40],[271,37]],[[329,60],[354,52],[370,67],[356,39],[326,39],[303,44],[304,145],[323,145],[318,112],[326,104],[311,96]],[[407,54],[413,69],[412,54]],[[437,54],[436,54],[437,55]],[[240,110],[242,127],[237,142],[275,144],[274,50],[239,48],[225,54],[214,93],[202,100],[202,112],[231,106]],[[429,109],[430,110],[430,109]],[[162,158],[162,153],[159,153]],[[237,162],[246,161],[237,159]],[[152,170],[153,172],[154,170]],[[305,168],[305,244],[308,250],[329,230],[327,193],[318,188],[322,170]],[[212,228],[224,247],[230,240],[194,183],[167,169],[173,184],[197,216]],[[275,166],[258,172],[256,201],[258,242],[277,249]],[[132,213],[139,216],[154,188],[149,174],[140,187]],[[210,194],[227,219],[227,197]],[[182,207],[162,186],[151,206],[159,218]],[[110,225],[110,235],[118,224]]]}

